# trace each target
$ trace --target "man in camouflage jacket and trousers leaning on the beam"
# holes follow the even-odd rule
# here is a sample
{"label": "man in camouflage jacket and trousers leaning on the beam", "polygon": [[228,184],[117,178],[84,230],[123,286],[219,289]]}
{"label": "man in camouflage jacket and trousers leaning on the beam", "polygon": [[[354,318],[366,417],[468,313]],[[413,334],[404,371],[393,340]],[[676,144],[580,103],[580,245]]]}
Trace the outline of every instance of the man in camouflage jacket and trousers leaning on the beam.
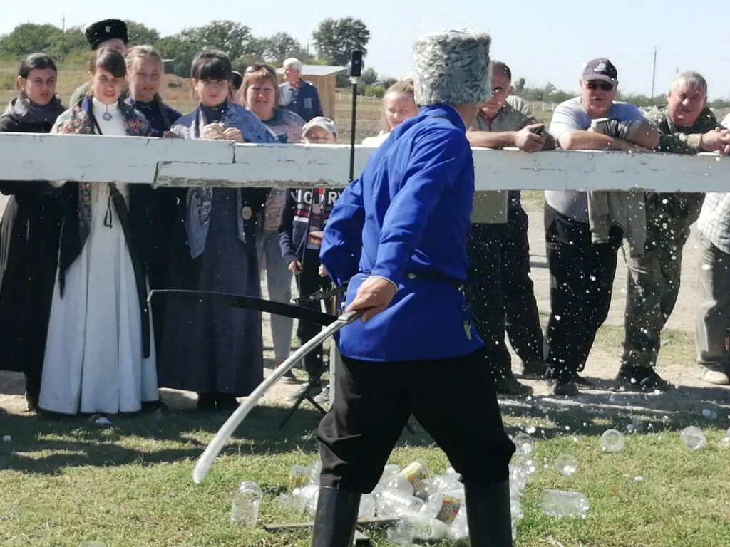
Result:
{"label": "man in camouflage jacket and trousers leaning on the beam", "polygon": [[[666,106],[648,114],[661,139],[657,150],[696,154],[730,150],[730,133],[706,106],[707,82],[696,72],[677,76]],[[702,193],[649,193],[646,198],[647,238],[643,257],[626,257],[626,333],[618,380],[642,391],[669,389],[654,370],[661,329],[675,307],[680,289],[682,250],[689,228],[702,209]]]}

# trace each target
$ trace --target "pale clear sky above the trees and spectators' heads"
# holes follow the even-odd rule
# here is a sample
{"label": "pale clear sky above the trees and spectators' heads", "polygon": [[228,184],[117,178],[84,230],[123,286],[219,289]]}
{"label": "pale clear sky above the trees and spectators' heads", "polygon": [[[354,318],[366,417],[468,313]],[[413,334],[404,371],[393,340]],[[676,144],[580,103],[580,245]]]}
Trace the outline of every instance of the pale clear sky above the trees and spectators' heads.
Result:
{"label": "pale clear sky above the trees and spectators' heads", "polygon": [[565,90],[577,89],[585,61],[606,56],[618,68],[621,89],[648,94],[656,45],[656,93],[669,87],[677,70],[694,69],[707,78],[710,98],[730,96],[730,36],[724,31],[726,2],[719,0],[126,0],[114,7],[101,1],[34,0],[32,9],[13,5],[3,10],[0,34],[28,21],[61,26],[64,15],[67,26],[115,17],[137,20],[163,35],[218,18],[244,23],[256,36],[285,31],[306,44],[324,18],[352,15],[371,32],[366,66],[393,77],[410,70],[410,46],[418,34],[476,28],[491,34],[493,58],[507,62],[515,77]]}

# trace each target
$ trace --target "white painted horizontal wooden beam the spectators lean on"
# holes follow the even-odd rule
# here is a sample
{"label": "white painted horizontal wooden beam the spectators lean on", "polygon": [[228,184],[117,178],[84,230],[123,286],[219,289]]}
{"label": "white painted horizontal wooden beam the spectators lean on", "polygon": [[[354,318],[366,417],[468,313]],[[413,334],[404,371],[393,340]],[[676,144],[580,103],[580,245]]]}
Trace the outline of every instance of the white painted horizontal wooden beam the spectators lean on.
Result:
{"label": "white painted horizontal wooden beam the spectators lean on", "polygon": [[[356,147],[356,173],[372,150]],[[730,191],[730,159],[715,155],[474,149],[474,160],[477,190]],[[0,161],[0,180],[344,187],[350,147],[0,133]]]}

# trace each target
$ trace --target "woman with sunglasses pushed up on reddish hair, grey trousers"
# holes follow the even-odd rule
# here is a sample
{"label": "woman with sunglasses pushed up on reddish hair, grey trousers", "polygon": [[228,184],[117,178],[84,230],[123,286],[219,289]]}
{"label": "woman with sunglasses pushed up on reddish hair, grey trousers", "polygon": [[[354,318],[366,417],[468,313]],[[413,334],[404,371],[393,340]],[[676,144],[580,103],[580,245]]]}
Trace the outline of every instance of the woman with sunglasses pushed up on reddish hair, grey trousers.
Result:
{"label": "woman with sunglasses pushed up on reddish hair, grey trousers", "polygon": [[[279,106],[279,77],[273,66],[255,64],[246,69],[241,87],[243,106],[253,112],[277,140],[296,143],[301,140],[304,120],[296,112]],[[272,188],[266,196],[264,218],[256,246],[262,270],[266,268],[266,284],[269,298],[288,303],[291,300],[291,272],[281,255],[279,247],[279,222],[286,194],[283,188]],[[291,335],[294,321],[289,317],[272,315],[272,338],[274,340],[274,366],[280,365],[291,351]],[[289,380],[296,379],[290,374]]]}

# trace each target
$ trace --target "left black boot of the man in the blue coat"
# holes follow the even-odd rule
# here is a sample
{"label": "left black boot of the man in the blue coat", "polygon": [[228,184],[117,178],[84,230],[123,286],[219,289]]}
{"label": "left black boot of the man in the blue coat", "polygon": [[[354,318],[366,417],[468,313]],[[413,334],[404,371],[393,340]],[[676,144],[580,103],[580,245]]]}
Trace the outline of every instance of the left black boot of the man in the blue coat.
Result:
{"label": "left black boot of the man in the blue coat", "polygon": [[312,547],[352,547],[360,497],[359,492],[320,488]]}

